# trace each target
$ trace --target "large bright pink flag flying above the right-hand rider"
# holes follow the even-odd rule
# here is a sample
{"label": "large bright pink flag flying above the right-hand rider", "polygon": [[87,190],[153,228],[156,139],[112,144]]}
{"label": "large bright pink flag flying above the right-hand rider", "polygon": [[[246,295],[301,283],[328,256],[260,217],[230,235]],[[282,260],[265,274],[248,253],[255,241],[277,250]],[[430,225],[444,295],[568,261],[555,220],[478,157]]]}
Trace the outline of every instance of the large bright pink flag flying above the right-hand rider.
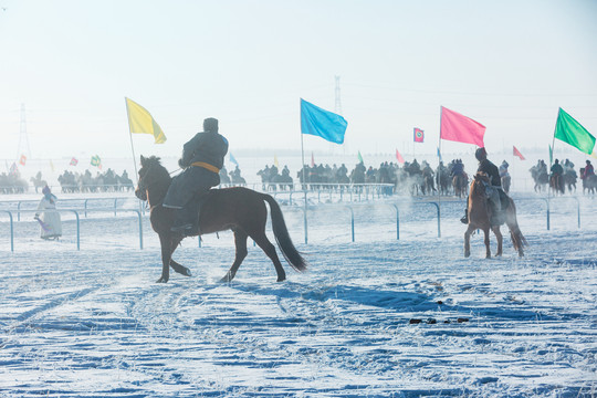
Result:
{"label": "large bright pink flag flying above the right-hand rider", "polygon": [[441,107],[440,138],[484,147],[485,126],[454,111]]}

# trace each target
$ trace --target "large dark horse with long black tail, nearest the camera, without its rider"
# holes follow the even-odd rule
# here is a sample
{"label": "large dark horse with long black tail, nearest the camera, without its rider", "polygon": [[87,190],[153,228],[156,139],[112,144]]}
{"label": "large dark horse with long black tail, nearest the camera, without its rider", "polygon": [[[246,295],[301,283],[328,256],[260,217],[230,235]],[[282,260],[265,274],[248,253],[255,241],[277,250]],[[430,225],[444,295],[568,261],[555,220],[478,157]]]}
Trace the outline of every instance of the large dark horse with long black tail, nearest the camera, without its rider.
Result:
{"label": "large dark horse with long black tail, nearest the camera, without its rider", "polygon": [[[184,237],[170,232],[176,210],[161,206],[171,182],[170,175],[161,166],[159,158],[155,156],[148,158],[142,156],[140,163],[139,181],[135,195],[140,200],[147,200],[149,203],[151,228],[159,235],[163,268],[161,276],[157,282],[168,282],[170,266],[176,272],[190,276],[189,269],[180,265],[171,258]],[[237,247],[234,262],[222,277],[222,282],[232,281],[240,264],[247,256],[248,237],[251,237],[273,261],[277,273],[277,282],[286,279],[275,247],[265,234],[265,224],[268,222],[265,202],[270,205],[272,229],[282,254],[296,271],[306,270],[306,262],[292,243],[282,210],[274,198],[242,187],[212,189],[209,191],[200,212],[199,229],[201,234],[232,230]]]}

